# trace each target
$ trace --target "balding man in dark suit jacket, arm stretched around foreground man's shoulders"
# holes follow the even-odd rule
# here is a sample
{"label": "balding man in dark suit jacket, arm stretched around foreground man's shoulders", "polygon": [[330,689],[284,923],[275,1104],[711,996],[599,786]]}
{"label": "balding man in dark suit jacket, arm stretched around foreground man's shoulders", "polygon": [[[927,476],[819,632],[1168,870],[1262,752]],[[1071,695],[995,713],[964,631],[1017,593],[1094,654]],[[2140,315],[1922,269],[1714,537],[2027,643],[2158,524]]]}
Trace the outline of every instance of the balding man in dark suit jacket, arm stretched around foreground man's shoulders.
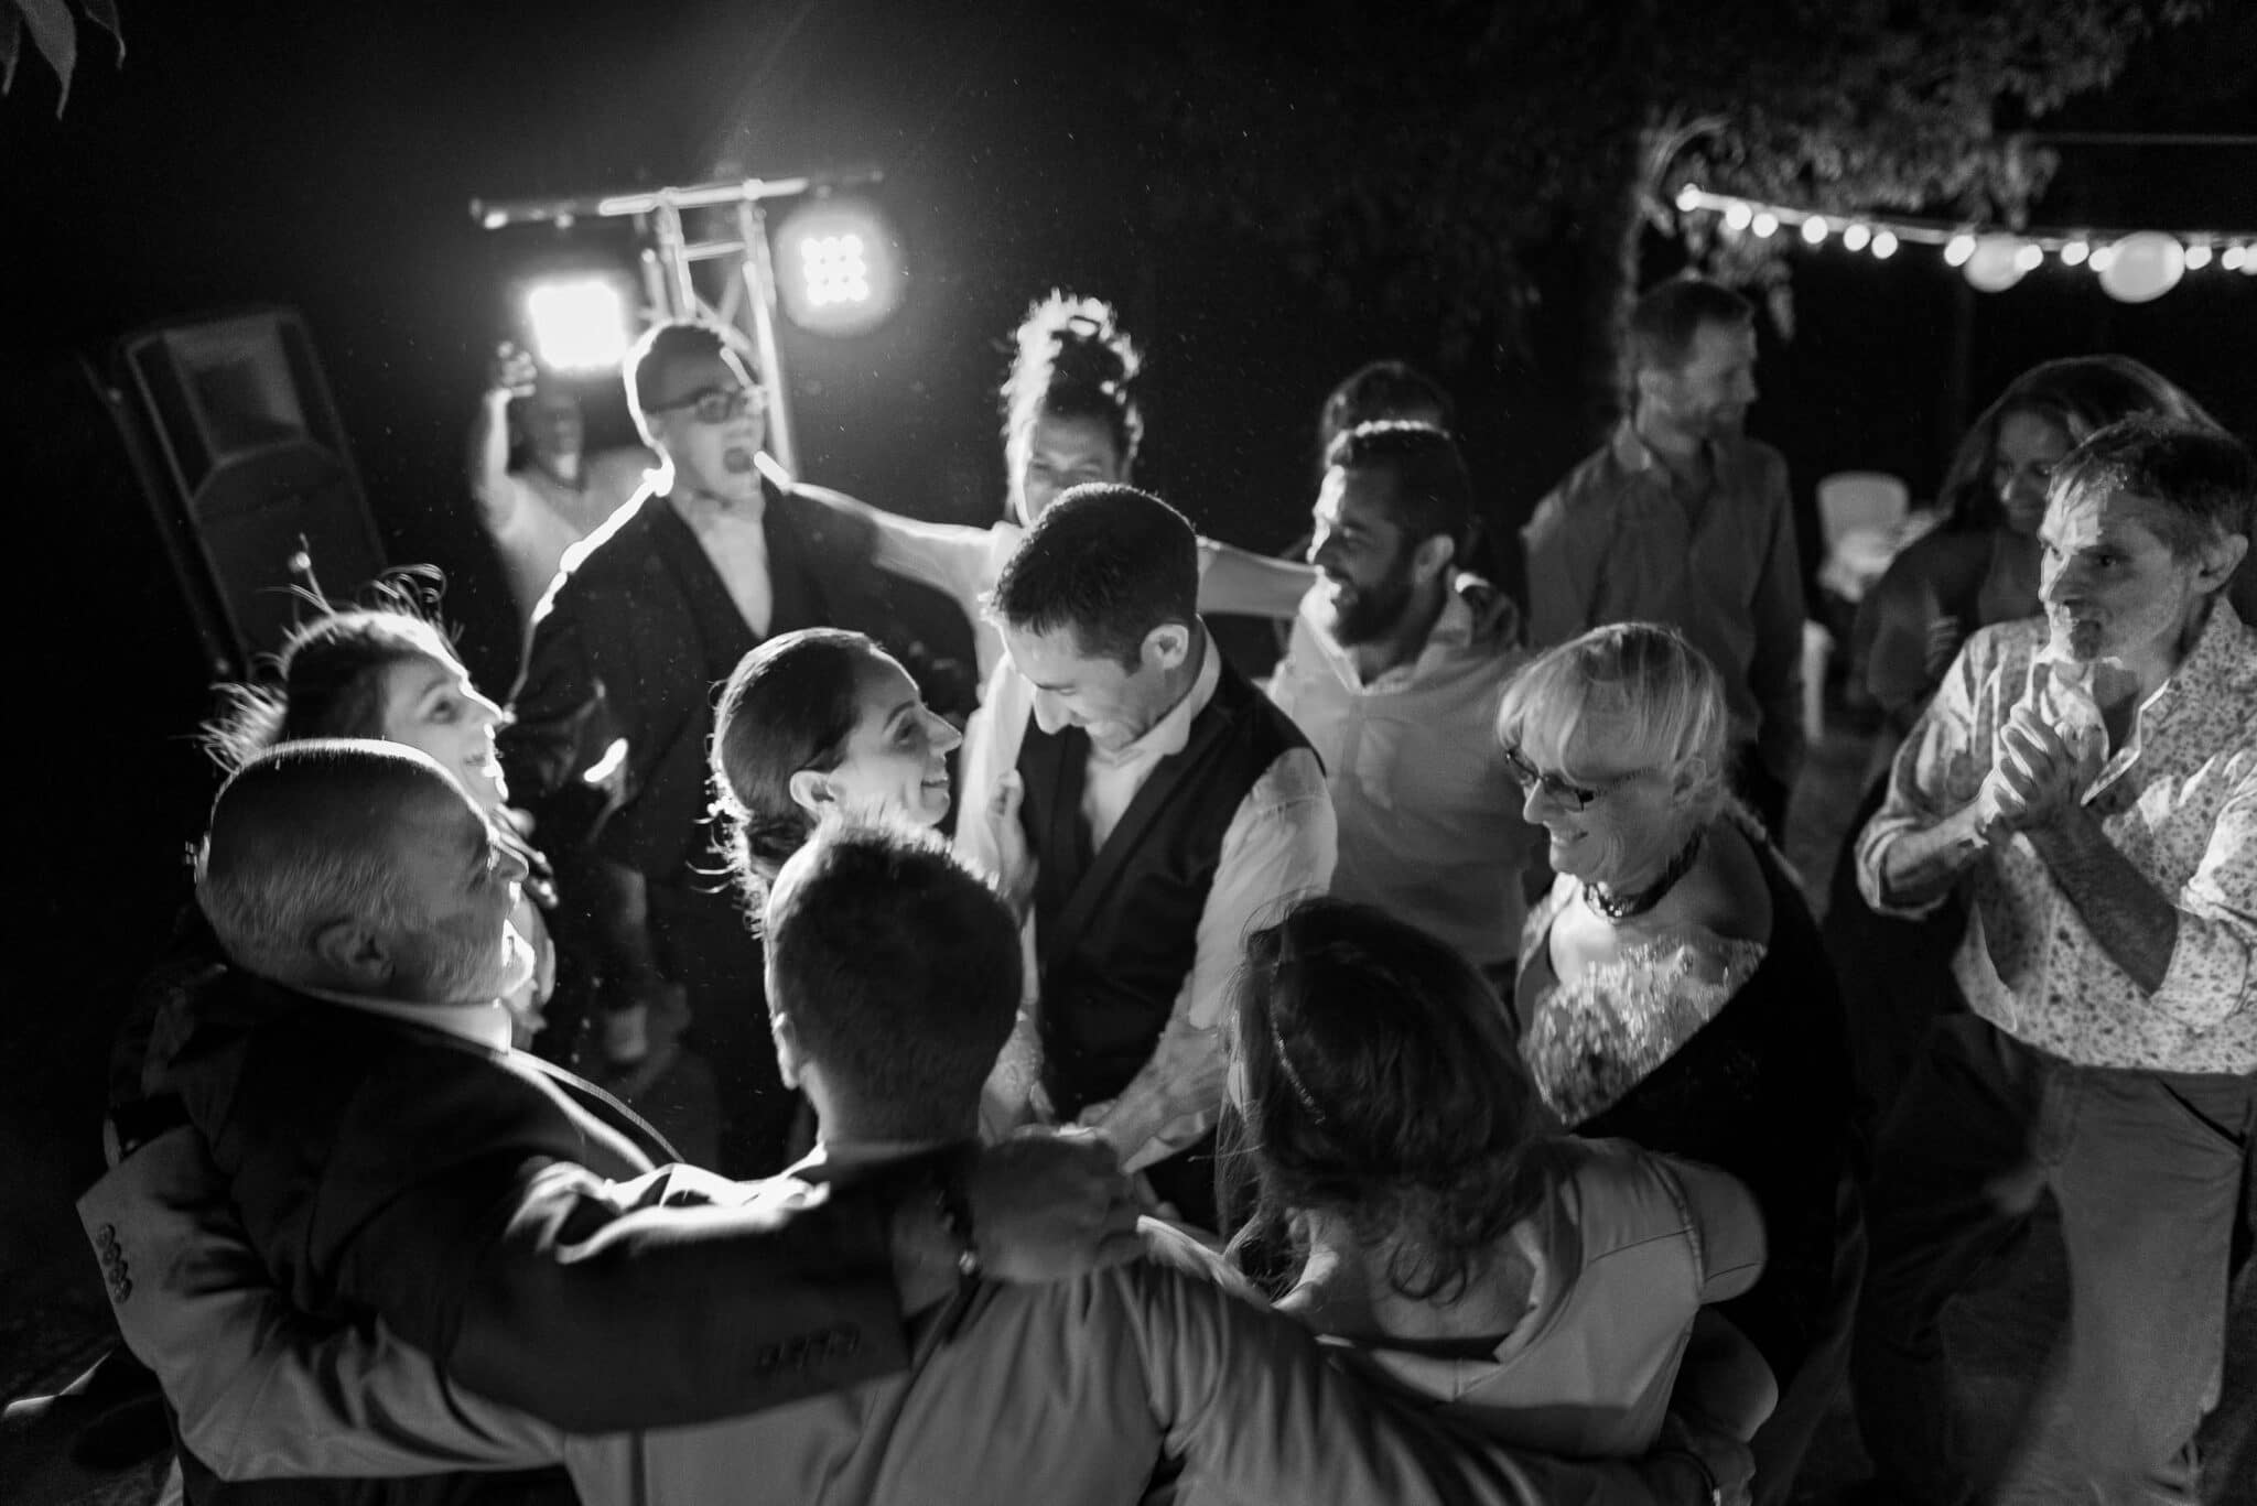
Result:
{"label": "balding man in dark suit jacket, arm stretched around foreground man's shoulders", "polygon": [[[986,1158],[948,1156],[858,1197],[670,1208],[700,1188],[655,1172],[673,1156],[648,1124],[508,1050],[521,876],[463,790],[390,743],[284,745],[221,790],[196,901],[235,969],[169,1086],[291,1307],[381,1319],[449,1386],[607,1431],[882,1375],[907,1359],[901,1301],[966,1253],[1045,1278],[1108,1215],[1133,1226],[1106,1156],[1059,1145],[1002,1197]],[[1056,1212],[1027,1217],[1061,1194],[1083,1222],[1065,1240]],[[952,1199],[986,1215],[973,1246],[939,1215]],[[244,1499],[187,1472],[199,1501]],[[431,1477],[384,1499],[458,1495]]]}

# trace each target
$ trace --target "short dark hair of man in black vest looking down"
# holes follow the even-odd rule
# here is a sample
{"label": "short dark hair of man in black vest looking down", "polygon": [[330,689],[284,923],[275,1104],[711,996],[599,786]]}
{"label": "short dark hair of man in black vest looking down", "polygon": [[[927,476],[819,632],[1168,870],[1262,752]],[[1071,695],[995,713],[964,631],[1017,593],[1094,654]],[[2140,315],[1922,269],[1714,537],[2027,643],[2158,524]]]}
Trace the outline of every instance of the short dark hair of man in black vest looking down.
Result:
{"label": "short dark hair of man in black vest looking down", "polygon": [[1077,485],[1034,519],[991,612],[1020,632],[1072,628],[1083,657],[1135,671],[1153,628],[1198,621],[1198,535],[1151,492]]}

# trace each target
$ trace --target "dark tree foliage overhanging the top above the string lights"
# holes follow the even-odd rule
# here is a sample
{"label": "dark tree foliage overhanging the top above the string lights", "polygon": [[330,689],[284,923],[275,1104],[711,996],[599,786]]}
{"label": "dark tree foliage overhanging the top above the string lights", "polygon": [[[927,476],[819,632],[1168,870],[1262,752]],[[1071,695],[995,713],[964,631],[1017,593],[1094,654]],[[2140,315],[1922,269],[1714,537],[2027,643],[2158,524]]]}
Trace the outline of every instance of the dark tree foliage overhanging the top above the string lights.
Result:
{"label": "dark tree foliage overhanging the top above the string lights", "polygon": [[[1221,212],[1336,291],[1521,341],[1551,303],[1596,406],[1661,194],[2018,221],[2016,131],[2203,0],[1142,0],[1138,93]],[[1783,266],[1709,244],[1713,269]]]}

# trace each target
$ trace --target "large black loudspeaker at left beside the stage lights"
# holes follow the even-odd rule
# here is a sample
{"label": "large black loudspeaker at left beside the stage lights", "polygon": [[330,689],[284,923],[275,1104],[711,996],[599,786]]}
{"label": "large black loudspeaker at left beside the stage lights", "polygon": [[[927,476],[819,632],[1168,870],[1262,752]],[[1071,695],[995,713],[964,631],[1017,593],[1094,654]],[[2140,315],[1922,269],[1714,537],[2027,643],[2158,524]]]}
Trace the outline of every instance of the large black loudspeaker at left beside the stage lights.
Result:
{"label": "large black loudspeaker at left beside the stage lights", "polygon": [[[305,321],[246,309],[117,343],[108,393],[205,648],[228,675],[282,646],[305,589],[384,571],[352,449]],[[293,589],[296,587],[296,589]]]}

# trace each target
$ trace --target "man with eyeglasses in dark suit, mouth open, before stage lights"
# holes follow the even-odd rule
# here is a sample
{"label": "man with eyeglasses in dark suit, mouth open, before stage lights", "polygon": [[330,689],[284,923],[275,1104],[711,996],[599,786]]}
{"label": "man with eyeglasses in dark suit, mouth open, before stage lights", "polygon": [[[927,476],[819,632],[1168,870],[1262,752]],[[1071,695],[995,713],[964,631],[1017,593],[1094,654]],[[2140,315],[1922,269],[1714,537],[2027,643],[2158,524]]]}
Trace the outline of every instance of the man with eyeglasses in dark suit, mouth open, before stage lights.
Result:
{"label": "man with eyeglasses in dark suit, mouth open, before stage lights", "polygon": [[[627,406],[659,454],[639,499],[564,555],[533,614],[501,738],[557,860],[557,1054],[594,1002],[603,1061],[691,1158],[713,1154],[711,1088],[670,1070],[684,1012],[720,1095],[722,1170],[783,1163],[794,1100],[747,980],[758,948],[706,829],[713,686],[794,628],[858,628],[903,648],[871,589],[871,533],[761,465],[765,393],[729,339],[661,323],[625,366]],[[573,987],[578,984],[578,987]],[[668,1102],[668,1100],[688,1102]]]}

